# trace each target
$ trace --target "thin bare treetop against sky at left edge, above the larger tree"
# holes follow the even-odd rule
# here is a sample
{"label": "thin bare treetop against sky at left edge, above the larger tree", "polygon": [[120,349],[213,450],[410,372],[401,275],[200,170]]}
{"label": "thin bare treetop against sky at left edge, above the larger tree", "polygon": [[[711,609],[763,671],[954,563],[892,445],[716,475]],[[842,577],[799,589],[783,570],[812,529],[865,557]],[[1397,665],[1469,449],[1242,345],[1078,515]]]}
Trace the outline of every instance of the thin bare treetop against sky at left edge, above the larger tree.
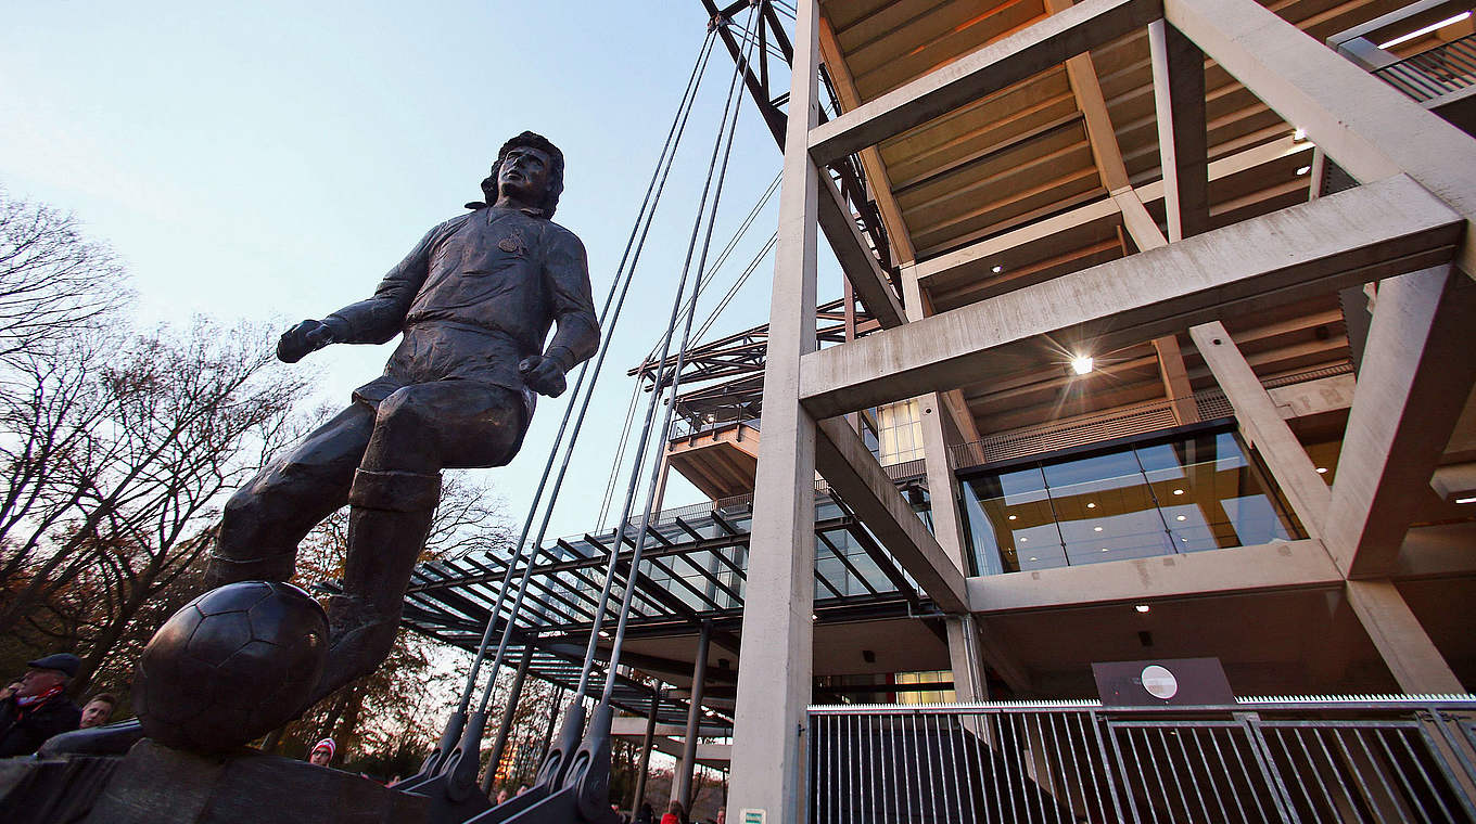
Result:
{"label": "thin bare treetop against sky at left edge, above the larger tree", "polygon": [[123,267],[72,215],[0,189],[0,358],[97,329],[130,298]]}

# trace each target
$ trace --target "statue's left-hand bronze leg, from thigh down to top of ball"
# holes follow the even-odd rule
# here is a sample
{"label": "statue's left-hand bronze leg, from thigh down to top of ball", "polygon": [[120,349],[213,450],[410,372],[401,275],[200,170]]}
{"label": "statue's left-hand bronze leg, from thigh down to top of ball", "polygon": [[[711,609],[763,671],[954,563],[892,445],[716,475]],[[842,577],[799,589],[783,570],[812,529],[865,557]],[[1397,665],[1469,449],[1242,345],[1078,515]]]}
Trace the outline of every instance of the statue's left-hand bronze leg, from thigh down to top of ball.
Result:
{"label": "statue's left-hand bronze leg, from thigh down to top of ball", "polygon": [[236,489],[220,519],[208,588],[292,578],[298,542],[348,500],[373,419],[368,404],[348,407]]}

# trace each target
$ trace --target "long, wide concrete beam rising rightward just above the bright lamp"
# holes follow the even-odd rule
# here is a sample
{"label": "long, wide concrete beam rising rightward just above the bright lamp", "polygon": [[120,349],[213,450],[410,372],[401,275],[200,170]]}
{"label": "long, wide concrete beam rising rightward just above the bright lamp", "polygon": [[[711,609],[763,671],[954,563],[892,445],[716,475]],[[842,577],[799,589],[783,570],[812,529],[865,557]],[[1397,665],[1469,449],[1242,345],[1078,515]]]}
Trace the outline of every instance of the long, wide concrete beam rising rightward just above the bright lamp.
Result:
{"label": "long, wide concrete beam rising rightward just above the bright lamp", "polygon": [[[1464,221],[1408,177],[1359,186],[804,355],[815,417],[1116,351],[1449,259]],[[768,438],[768,435],[766,435]]]}

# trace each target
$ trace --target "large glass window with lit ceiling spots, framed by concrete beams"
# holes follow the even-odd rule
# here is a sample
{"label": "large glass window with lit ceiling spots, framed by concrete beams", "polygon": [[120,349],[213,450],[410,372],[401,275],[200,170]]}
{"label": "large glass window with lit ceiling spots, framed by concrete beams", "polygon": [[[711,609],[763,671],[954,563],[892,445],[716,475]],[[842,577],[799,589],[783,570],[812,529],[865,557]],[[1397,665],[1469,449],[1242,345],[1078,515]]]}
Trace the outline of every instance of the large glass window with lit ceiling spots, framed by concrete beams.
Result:
{"label": "large glass window with lit ceiling spots, framed by concrete beams", "polygon": [[977,575],[1287,541],[1290,519],[1234,432],[961,478]]}

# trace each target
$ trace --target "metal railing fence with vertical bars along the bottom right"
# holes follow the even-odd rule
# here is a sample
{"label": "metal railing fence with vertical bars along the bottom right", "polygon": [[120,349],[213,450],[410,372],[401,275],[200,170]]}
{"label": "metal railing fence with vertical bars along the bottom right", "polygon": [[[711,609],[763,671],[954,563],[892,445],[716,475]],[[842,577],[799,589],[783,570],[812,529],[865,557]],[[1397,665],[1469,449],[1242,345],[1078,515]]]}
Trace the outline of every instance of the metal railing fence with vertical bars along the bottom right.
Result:
{"label": "metal railing fence with vertical bars along the bottom right", "polygon": [[816,706],[813,824],[1473,823],[1476,697]]}

